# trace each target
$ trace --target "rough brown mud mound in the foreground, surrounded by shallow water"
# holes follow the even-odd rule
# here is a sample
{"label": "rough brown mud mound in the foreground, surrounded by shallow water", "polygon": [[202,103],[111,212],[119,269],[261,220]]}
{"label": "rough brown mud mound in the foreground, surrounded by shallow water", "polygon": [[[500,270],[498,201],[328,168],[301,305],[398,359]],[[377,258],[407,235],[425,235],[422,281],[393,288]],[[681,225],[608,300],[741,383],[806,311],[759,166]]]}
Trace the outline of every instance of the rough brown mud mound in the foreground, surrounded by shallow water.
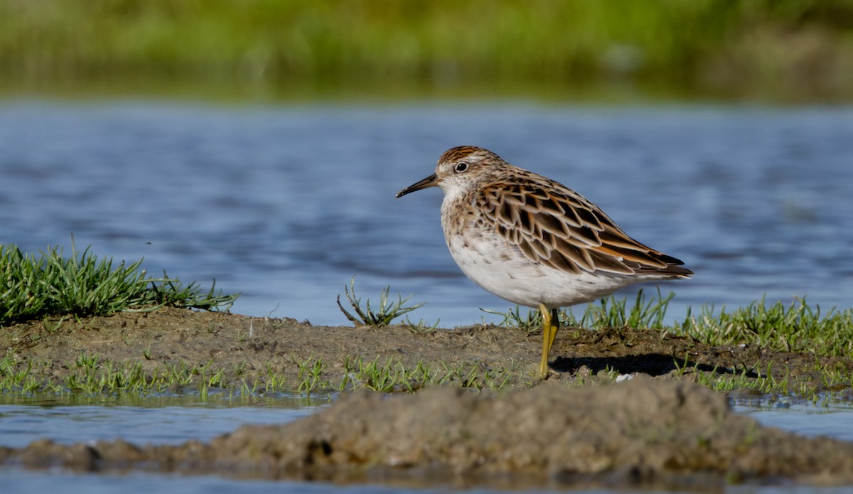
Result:
{"label": "rough brown mud mound in the foreground, surrounded by shallow water", "polygon": [[210,444],[43,440],[2,450],[0,459],[87,471],[297,479],[853,483],[853,444],[761,427],[705,387],[641,377],[612,386],[554,383],[500,395],[444,387],[392,397],[355,392],[314,416],[240,427]]}

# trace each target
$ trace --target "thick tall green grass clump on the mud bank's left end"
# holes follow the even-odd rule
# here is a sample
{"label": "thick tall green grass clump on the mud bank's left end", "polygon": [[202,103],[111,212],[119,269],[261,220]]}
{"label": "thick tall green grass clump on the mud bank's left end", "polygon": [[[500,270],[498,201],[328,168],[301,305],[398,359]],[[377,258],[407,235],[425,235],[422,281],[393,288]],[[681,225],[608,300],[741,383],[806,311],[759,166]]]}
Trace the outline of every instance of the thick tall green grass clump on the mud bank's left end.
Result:
{"label": "thick tall green grass clump on the mud bank's left end", "polygon": [[70,257],[61,247],[32,254],[13,244],[0,245],[0,326],[51,315],[104,316],[165,305],[225,310],[239,296],[215,292],[215,281],[205,293],[195,283],[183,286],[165,273],[150,277],[141,264],[113,264],[113,259],[98,259],[89,247],[78,252],[73,243]]}

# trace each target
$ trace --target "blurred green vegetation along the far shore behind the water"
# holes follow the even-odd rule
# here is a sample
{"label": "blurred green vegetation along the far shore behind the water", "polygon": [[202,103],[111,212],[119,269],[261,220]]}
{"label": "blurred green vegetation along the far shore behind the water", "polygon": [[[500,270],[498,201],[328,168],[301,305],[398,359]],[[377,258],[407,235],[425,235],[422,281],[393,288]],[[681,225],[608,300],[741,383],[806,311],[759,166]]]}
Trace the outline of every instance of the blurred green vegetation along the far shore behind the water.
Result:
{"label": "blurred green vegetation along the far shore behind the water", "polygon": [[0,0],[0,84],[849,99],[853,0]]}

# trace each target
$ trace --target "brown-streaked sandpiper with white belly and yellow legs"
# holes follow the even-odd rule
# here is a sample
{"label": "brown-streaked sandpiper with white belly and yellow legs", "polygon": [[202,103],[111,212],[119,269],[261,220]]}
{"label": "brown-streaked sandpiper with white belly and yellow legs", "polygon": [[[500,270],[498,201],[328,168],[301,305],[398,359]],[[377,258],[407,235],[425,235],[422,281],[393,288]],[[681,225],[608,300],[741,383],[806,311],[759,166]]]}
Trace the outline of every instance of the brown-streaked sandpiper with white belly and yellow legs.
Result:
{"label": "brown-streaked sandpiper with white belly and yellow legs", "polygon": [[444,240],[462,272],[502,299],[541,311],[542,380],[560,308],[635,282],[693,275],[681,260],[628,236],[583,195],[488,149],[448,149],[432,175],[396,196],[429,187],[444,191]]}

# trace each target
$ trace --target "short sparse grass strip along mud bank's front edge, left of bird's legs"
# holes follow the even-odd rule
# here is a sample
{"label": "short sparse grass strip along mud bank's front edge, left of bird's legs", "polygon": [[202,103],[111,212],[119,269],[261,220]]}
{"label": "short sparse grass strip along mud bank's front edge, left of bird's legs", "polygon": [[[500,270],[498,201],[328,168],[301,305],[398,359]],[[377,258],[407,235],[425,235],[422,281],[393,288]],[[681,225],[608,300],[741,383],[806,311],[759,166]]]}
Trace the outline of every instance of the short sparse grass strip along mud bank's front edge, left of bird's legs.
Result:
{"label": "short sparse grass strip along mud bank's front edge, left of bird's legs", "polygon": [[[425,386],[453,385],[475,390],[502,389],[513,380],[525,379],[520,366],[491,369],[479,363],[450,364],[418,362],[414,367],[388,357],[365,361],[344,357],[342,363],[324,362],[316,357],[293,358],[295,378],[271,367],[264,374],[246,374],[246,364],[216,367],[201,364],[161,363],[154,368],[143,361],[113,361],[107,357],[80,353],[68,365],[68,373],[55,377],[48,363],[32,359],[18,361],[11,352],[0,358],[0,393],[26,395],[51,393],[61,396],[125,394],[197,394],[202,400],[212,394],[270,395],[301,393],[303,396],[334,394],[370,389],[380,392],[414,392]],[[343,372],[340,370],[343,369]]]}

